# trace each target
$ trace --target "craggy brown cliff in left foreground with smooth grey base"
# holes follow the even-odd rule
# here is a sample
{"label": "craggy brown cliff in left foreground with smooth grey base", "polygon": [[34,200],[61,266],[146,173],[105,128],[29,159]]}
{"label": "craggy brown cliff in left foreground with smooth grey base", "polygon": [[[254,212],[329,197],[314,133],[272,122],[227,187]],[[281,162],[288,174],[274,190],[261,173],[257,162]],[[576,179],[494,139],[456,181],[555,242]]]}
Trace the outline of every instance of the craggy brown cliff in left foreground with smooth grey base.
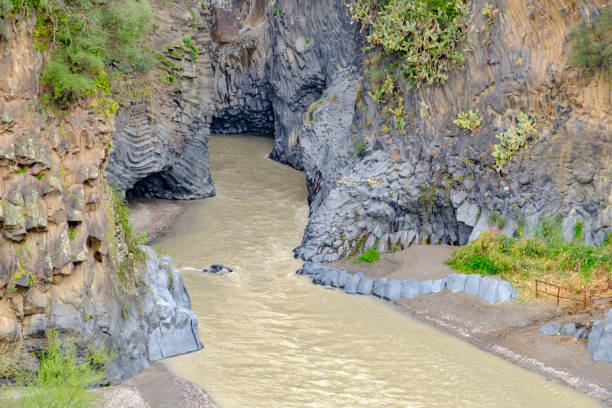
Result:
{"label": "craggy brown cliff in left foreground with smooth grey base", "polygon": [[[108,380],[119,381],[148,366],[149,352],[155,359],[179,348],[201,348],[197,320],[171,261],[145,248],[146,265],[130,266],[133,255],[114,221],[104,176],[112,120],[91,108],[91,99],[73,104],[61,118],[43,115],[38,100],[43,55],[34,48],[32,24],[2,24],[3,357],[8,352],[36,367],[33,352],[56,331],[62,341],[75,344],[79,355],[104,343],[117,355]],[[181,347],[165,345],[172,340]]]}

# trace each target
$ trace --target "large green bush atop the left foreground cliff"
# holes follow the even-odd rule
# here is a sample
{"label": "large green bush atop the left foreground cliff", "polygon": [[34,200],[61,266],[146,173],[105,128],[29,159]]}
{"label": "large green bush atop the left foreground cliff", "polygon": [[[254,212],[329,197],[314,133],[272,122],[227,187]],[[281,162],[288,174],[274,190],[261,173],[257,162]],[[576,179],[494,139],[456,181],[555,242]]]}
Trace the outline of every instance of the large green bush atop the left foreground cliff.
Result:
{"label": "large green bush atop the left foreground cliff", "polygon": [[152,66],[143,43],[154,21],[148,0],[10,2],[12,13],[36,15],[36,47],[49,50],[42,83],[64,106],[94,93],[107,95],[109,79]]}

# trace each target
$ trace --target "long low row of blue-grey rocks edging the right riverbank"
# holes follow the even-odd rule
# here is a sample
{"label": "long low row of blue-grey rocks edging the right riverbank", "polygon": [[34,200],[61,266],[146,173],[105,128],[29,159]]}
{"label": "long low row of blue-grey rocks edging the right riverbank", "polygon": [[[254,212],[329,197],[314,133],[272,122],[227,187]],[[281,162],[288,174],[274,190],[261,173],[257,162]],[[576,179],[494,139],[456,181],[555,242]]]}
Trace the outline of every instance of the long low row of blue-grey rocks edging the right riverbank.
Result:
{"label": "long low row of blue-grey rocks edging the right riverbank", "polygon": [[452,293],[465,292],[476,295],[486,302],[505,302],[515,299],[516,289],[510,282],[489,276],[452,274],[446,278],[419,281],[416,279],[379,278],[370,279],[361,272],[349,272],[329,264],[307,262],[298,275],[312,276],[312,282],[319,285],[344,289],[348,294],[374,295],[385,300],[412,299],[418,295],[439,293],[445,288]]}

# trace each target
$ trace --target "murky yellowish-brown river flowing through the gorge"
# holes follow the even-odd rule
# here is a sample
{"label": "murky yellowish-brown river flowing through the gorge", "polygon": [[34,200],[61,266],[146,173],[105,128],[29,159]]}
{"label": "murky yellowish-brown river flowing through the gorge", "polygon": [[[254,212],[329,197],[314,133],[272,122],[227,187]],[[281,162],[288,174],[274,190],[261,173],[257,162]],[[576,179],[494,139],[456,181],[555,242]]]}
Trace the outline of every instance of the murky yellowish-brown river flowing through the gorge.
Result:
{"label": "murky yellowish-brown river flowing through the gorge", "polygon": [[[295,275],[304,174],[270,139],[213,136],[214,198],[186,203],[173,254],[205,348],[165,360],[221,408],[595,407],[595,400],[403,316]],[[225,276],[203,274],[222,263]]]}

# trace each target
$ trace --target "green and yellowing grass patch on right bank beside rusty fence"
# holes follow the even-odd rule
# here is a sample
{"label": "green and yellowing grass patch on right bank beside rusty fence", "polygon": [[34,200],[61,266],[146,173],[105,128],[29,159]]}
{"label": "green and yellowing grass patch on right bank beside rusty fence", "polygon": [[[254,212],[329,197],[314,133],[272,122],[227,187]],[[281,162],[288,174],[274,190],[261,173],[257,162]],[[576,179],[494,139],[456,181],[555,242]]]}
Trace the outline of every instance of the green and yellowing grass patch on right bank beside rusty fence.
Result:
{"label": "green and yellowing grass patch on right bank beside rusty fence", "polygon": [[[581,234],[581,227],[576,228]],[[581,235],[566,242],[561,218],[544,218],[530,238],[510,238],[485,231],[480,238],[452,253],[446,261],[466,273],[499,275],[519,288],[524,299],[535,295],[535,279],[584,289],[610,277],[612,245],[592,247]]]}

